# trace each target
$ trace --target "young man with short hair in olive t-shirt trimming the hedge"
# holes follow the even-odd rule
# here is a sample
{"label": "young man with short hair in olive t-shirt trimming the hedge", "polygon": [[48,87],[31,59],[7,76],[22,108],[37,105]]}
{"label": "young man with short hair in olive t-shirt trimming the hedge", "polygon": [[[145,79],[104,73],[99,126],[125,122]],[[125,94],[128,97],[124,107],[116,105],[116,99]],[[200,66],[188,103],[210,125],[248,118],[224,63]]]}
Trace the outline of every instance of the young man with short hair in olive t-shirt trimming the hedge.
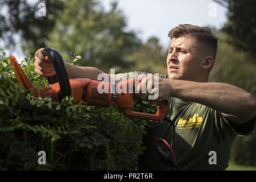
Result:
{"label": "young man with short hair in olive t-shirt trimming the hedge", "polygon": [[[217,38],[209,28],[180,24],[169,36],[168,79],[159,78],[159,86],[153,89],[159,93],[158,99],[147,100],[148,94],[137,96],[148,102],[170,97],[168,117],[176,126],[173,148],[179,169],[225,169],[236,135],[247,135],[253,130],[256,100],[237,86],[208,82],[217,52]],[[68,63],[65,67],[70,78],[97,80],[102,73],[93,67]],[[44,77],[55,75],[51,60],[43,56],[42,49],[35,53],[35,72]],[[144,82],[152,88],[154,77],[143,77],[138,90]],[[170,140],[171,133],[172,127],[166,121],[153,127],[144,142],[147,150],[141,158],[141,169],[170,169],[160,162],[154,141],[157,138]],[[214,159],[210,159],[213,155]]]}

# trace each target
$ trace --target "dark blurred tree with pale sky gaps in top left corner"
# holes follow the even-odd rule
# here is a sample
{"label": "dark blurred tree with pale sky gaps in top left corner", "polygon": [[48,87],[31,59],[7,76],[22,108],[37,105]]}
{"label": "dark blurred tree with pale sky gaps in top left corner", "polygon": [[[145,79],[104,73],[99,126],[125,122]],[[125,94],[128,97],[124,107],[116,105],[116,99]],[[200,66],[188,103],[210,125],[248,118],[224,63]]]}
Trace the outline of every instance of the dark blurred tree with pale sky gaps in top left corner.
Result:
{"label": "dark blurred tree with pale sky gaps in top left corner", "polygon": [[0,0],[0,39],[7,48],[14,48],[15,35],[20,36],[23,51],[35,53],[46,47],[48,33],[55,27],[55,20],[63,9],[63,1],[46,0],[46,16],[40,17],[39,1]]}

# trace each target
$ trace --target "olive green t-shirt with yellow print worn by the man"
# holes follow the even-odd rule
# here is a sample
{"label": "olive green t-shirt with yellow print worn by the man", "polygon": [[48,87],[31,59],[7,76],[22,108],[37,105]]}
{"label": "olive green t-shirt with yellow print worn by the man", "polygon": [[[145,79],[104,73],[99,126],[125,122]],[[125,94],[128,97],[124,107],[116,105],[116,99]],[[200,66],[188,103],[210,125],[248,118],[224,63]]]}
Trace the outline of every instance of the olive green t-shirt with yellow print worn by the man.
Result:
{"label": "olive green t-shirt with yellow print worn by the man", "polygon": [[[140,72],[124,75],[126,78],[138,77]],[[163,77],[163,76],[161,76]],[[177,167],[180,170],[224,170],[228,167],[230,150],[237,135],[246,135],[254,127],[255,118],[245,125],[237,127],[228,121],[220,111],[208,106],[169,98],[171,105],[168,117],[174,121],[176,134],[173,149],[176,154]],[[168,170],[155,149],[157,138],[170,142],[172,126],[166,121],[158,122],[144,138],[147,147],[140,158],[142,170]],[[211,158],[216,156],[216,160]],[[210,162],[209,162],[210,161]]]}

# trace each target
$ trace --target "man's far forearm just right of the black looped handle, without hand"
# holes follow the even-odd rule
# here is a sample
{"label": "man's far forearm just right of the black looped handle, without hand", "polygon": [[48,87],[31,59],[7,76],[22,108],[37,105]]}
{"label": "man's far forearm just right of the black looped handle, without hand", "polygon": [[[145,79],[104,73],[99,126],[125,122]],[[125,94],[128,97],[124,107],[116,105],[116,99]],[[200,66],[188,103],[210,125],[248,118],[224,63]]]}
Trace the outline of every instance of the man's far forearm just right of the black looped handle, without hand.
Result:
{"label": "man's far forearm just right of the black looped handle, without hand", "polygon": [[97,80],[98,75],[104,73],[94,67],[77,67],[67,62],[65,62],[65,68],[69,78],[90,78],[91,80]]}

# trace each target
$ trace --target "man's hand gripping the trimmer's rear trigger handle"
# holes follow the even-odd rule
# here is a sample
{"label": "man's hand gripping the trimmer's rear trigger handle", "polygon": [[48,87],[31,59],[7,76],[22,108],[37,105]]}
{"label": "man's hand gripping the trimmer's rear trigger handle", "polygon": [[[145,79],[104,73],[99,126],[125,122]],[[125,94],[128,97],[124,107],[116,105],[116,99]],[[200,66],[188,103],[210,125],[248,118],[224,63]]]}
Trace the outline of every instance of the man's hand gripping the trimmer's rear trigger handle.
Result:
{"label": "man's hand gripping the trimmer's rear trigger handle", "polygon": [[171,93],[171,82],[168,79],[155,77],[154,75],[140,75],[141,83],[137,86],[136,97],[143,101],[155,103],[165,100]]}

